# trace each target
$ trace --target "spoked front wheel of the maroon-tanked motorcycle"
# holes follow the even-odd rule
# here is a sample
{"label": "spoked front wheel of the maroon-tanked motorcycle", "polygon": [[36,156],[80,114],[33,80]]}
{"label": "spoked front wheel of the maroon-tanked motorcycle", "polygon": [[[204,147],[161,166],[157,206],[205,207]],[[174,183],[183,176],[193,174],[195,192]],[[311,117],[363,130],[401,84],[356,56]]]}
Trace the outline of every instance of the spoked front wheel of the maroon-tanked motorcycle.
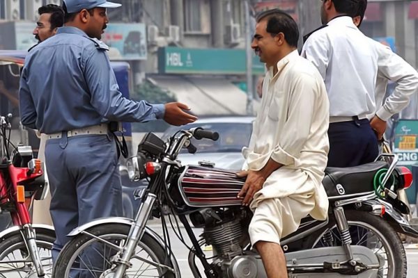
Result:
{"label": "spoked front wheel of the maroon-tanked motorcycle", "polygon": [[[130,226],[123,224],[102,224],[89,229],[89,234],[73,238],[59,254],[54,277],[113,278],[114,259],[125,244],[129,229]],[[132,266],[127,268],[124,278],[176,277],[164,249],[147,234],[138,243],[129,263]]]}

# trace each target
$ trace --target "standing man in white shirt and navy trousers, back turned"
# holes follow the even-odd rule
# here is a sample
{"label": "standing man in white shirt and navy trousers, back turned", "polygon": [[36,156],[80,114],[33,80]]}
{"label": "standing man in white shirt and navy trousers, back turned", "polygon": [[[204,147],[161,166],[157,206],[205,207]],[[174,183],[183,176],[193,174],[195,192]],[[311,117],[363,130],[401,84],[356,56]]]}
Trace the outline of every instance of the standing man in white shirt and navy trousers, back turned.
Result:
{"label": "standing man in white shirt and navy trousers, back turned", "polygon": [[[325,28],[304,44],[302,56],[323,76],[330,99],[328,166],[350,167],[374,161],[378,136],[368,115],[376,113],[376,44],[353,24],[359,0],[323,0]],[[371,126],[372,124],[372,126]],[[379,122],[378,122],[379,124]]]}

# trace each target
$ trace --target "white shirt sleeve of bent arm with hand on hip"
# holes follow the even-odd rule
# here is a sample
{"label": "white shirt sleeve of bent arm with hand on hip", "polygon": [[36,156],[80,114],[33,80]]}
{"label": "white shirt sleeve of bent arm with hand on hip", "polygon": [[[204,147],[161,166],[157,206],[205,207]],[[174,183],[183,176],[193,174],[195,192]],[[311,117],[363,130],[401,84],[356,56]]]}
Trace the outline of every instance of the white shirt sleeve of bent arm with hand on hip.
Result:
{"label": "white shirt sleeve of bent arm with hand on hip", "polygon": [[[371,40],[371,39],[370,39]],[[408,106],[410,98],[418,89],[418,72],[392,49],[371,40],[378,53],[378,77],[376,79],[376,115],[388,120]],[[388,81],[395,82],[396,88],[383,104]],[[375,113],[368,115],[371,119]]]}

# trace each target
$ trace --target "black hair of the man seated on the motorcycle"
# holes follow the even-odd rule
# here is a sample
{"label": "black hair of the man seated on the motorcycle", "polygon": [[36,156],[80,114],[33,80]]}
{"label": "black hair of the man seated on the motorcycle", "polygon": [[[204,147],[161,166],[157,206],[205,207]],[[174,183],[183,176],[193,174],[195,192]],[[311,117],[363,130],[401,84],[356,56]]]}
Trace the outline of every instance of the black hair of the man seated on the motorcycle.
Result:
{"label": "black hair of the man seated on the motorcycle", "polygon": [[284,34],[284,39],[291,47],[297,47],[297,41],[299,40],[299,28],[295,19],[285,13],[283,10],[273,9],[265,10],[256,16],[256,22],[267,19],[267,28],[265,31],[272,36],[279,33]]}

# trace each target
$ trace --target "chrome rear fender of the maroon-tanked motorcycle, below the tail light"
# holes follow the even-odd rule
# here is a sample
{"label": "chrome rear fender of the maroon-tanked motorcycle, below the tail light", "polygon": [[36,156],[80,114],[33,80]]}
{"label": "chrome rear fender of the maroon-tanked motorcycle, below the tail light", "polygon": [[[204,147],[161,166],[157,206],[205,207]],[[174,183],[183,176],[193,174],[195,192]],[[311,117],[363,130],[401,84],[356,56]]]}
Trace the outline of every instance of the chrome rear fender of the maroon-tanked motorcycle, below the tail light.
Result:
{"label": "chrome rear fender of the maroon-tanked motorcycle, below the tail light", "polygon": [[408,220],[406,220],[401,213],[398,213],[392,206],[382,199],[372,199],[366,202],[362,202],[362,204],[367,204],[370,206],[373,205],[383,205],[385,206],[385,218],[389,224],[394,228],[394,230],[398,233],[405,234],[407,236],[412,236],[413,238],[418,238],[418,231],[411,227]]}

